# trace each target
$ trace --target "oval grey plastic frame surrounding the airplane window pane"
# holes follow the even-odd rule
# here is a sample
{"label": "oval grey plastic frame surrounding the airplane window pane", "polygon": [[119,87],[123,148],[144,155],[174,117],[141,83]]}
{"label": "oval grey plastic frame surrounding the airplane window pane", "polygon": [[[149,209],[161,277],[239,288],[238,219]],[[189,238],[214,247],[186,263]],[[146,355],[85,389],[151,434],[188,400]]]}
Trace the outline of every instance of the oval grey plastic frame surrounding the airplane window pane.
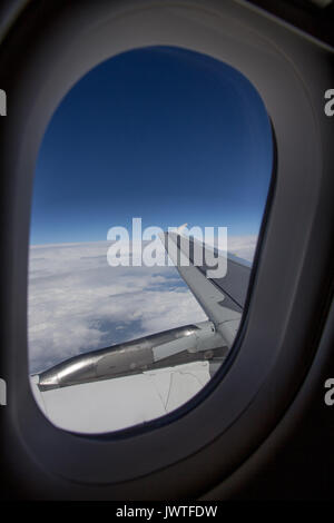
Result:
{"label": "oval grey plastic frame surrounding the airplane window pane", "polygon": [[[141,3],[145,3],[143,8]],[[168,2],[168,4],[166,2],[164,4],[163,2],[154,4],[140,2],[140,6],[139,2],[136,2],[136,7],[132,2],[127,2],[124,6],[121,8],[119,4],[107,6],[105,2],[94,7],[85,6],[80,16],[76,11],[77,6],[71,6],[62,12],[65,23],[58,26],[61,18],[57,17],[52,21],[46,20],[46,23],[50,23],[49,29],[52,24],[52,30],[48,32],[47,37],[45,36],[42,47],[37,37],[36,48],[31,48],[27,62],[20,65],[20,85],[16,83],[11,91],[11,118],[6,121],[7,134],[2,150],[8,176],[12,176],[17,184],[16,205],[10,213],[14,235],[8,257],[16,260],[11,274],[17,277],[11,282],[14,292],[10,298],[10,305],[17,312],[17,322],[20,328],[17,335],[10,330],[9,349],[13,349],[12,356],[16,356],[16,361],[24,362],[20,366],[12,361],[9,363],[9,374],[12,378],[12,413],[17,430],[24,434],[24,444],[35,460],[50,472],[75,482],[110,484],[134,480],[153,471],[160,471],[159,478],[164,481],[164,468],[173,464],[177,466],[188,456],[188,470],[191,470],[190,456],[194,457],[205,447],[209,453],[209,444],[215,440],[220,441],[219,445],[223,445],[223,448],[228,447],[228,456],[225,456],[222,464],[222,475],[226,475],[237,463],[240,463],[242,456],[247,456],[252,448],[256,447],[255,441],[258,443],[268,434],[279,417],[278,412],[283,413],[292,401],[305,374],[305,368],[303,368],[303,372],[297,374],[298,379],[296,378],[296,368],[301,356],[307,356],[306,359],[310,363],[313,357],[313,349],[308,346],[307,355],[305,355],[305,347],[297,338],[301,326],[296,328],[293,322],[296,318],[294,296],[297,287],[305,282],[303,263],[307,256],[306,244],[320,201],[322,161],[320,137],[315,131],[317,122],[302,76],[268,37],[271,24],[267,26],[265,20],[259,21],[258,26],[263,31],[263,36],[261,36],[257,30],[252,29],[252,16],[256,18],[257,14],[253,13],[248,18],[249,10],[247,8],[232,1],[224,2],[224,7],[219,8],[214,1],[208,2],[206,6],[209,7],[206,8],[196,2],[187,2],[187,4],[183,2]],[[257,26],[257,20],[253,20],[253,23]],[[154,41],[156,45],[167,42],[179,47],[185,46],[214,56],[214,58],[240,70],[253,82],[265,101],[275,129],[279,159],[275,197],[257,249],[252,303],[236,342],[239,345],[243,344],[243,351],[238,352],[238,357],[225,379],[220,381],[196,408],[188,411],[186,415],[168,425],[156,427],[155,431],[140,435],[131,433],[112,438],[108,436],[102,438],[78,436],[59,431],[46,423],[46,418],[38,411],[29,392],[27,328],[26,332],[23,328],[27,327],[27,300],[24,298],[27,297],[30,215],[28,200],[31,196],[35,158],[52,107],[57,106],[62,95],[76,81],[73,76],[77,75],[78,78],[85,72],[85,67],[87,70],[91,68],[90,65],[87,67],[87,60],[91,60],[94,55],[91,50],[91,46],[94,46],[92,32],[89,33],[90,53],[87,52],[84,57],[85,52],[82,53],[82,49],[78,46],[80,38],[78,37],[73,42],[72,37],[72,34],[78,34],[81,38],[87,38],[84,27],[87,30],[89,26],[99,42],[95,42],[98,45],[99,52],[102,49],[101,43],[107,47],[110,45],[110,39],[108,39],[110,33],[115,38],[114,43],[117,41],[118,45],[120,45],[118,38],[122,34],[122,38],[131,37],[131,48],[143,47],[148,41],[150,45]],[[60,27],[61,36],[59,33]],[[131,32],[130,27],[135,31]],[[138,33],[136,28],[140,28],[143,33]],[[275,29],[273,30],[275,32]],[[61,63],[57,62],[57,67],[52,69],[52,80],[58,78],[58,82],[56,81],[53,89],[50,90],[52,87],[50,86],[50,76],[48,86],[45,85],[38,90],[37,87],[41,83],[46,72],[50,72],[49,60],[51,56],[56,53],[59,58],[60,49],[68,49],[69,42],[76,43],[76,46],[73,45],[71,52],[65,57],[65,63],[60,60]],[[127,45],[129,45],[128,41]],[[266,52],[271,55],[273,69],[281,79],[278,87],[273,86],[271,75],[262,71],[263,56],[259,52],[262,48],[266,48]],[[78,53],[79,49],[80,53]],[[119,48],[118,52],[120,52]],[[81,61],[80,55],[81,59],[84,58]],[[110,57],[109,52],[108,57]],[[96,56],[94,61],[96,63]],[[57,72],[65,71],[66,63],[70,69],[68,70],[69,77],[67,79],[62,77],[59,80]],[[77,66],[76,71],[70,67],[72,63]],[[55,89],[58,91],[56,92]],[[281,92],[278,101],[275,99],[274,92]],[[302,119],[295,121],[293,115],[286,114],[286,108],[282,107],[282,100],[285,105],[294,107]],[[282,111],[285,115],[284,118],[282,118]],[[288,128],[288,137],[285,136],[287,135],[286,127]],[[38,131],[31,132],[36,131],[36,128]],[[18,129],[21,129],[22,132],[18,134]],[[304,129],[303,136],[298,136],[301,129]],[[289,137],[294,139],[294,158],[292,158]],[[13,157],[17,158],[14,164],[11,164],[10,155],[14,155]],[[296,157],[298,158],[297,167]],[[289,179],[291,167],[294,167],[294,182],[298,185],[298,190],[293,187],[294,184]],[[314,176],[315,172],[317,176]],[[286,197],[291,203],[296,203],[302,198],[306,210],[303,214],[303,209],[298,209],[298,219],[294,229],[289,230],[288,241],[282,237],[282,243],[277,248],[274,245],[275,238],[279,236],[279,231],[282,233],[284,227],[289,225],[289,218],[293,218],[292,211],[289,214],[282,211]],[[301,227],[302,217],[304,218],[303,228]],[[296,249],[301,253],[299,256],[293,256],[288,253],[292,239],[295,240]],[[305,253],[303,247],[305,247]],[[285,263],[289,266],[289,275],[284,282],[286,287],[284,287],[284,293],[279,288],[278,282],[274,282],[274,269],[279,270],[282,258],[275,263],[269,262],[272,256],[277,256],[279,251],[285,254]],[[279,319],[278,317],[273,318],[273,315],[269,314],[268,290],[275,296],[276,314]],[[315,282],[310,285],[308,295],[313,303]],[[287,310],[284,310],[289,300],[291,309],[294,310],[291,316]],[[307,313],[308,310],[305,310],[305,318],[310,316]],[[265,322],[264,318],[267,318],[268,322]],[[284,330],[282,330],[282,325],[285,325]],[[263,332],[263,328],[266,332]],[[296,329],[295,335],[293,328]],[[24,334],[22,334],[23,332]],[[265,354],[258,347],[258,333],[262,333],[263,341],[265,335],[271,334],[271,339],[267,337],[269,348],[266,347]],[[256,354],[259,352],[262,358],[254,376],[250,376],[252,379],[249,379],[248,371],[249,364],[252,366],[252,362],[254,362],[254,351]],[[236,383],[242,385],[236,387]],[[266,409],[268,407],[264,392],[273,389],[277,395],[275,412],[266,411],[268,415],[264,422],[262,407],[265,406]],[[230,397],[233,401],[222,413],[222,416],[217,417],[217,412],[220,414],[219,407],[224,397]],[[209,425],[208,422],[210,422]],[[245,428],[247,428],[247,440],[245,440]],[[189,434],[191,434],[191,440]],[[180,446],[171,448],[170,441],[179,441]],[[53,451],[52,455],[49,452],[50,447]],[[163,453],[161,448],[164,448]],[[136,456],[143,455],[143,453],[146,460],[136,461]],[[82,461],[82,456],[85,456],[85,461]],[[127,456],[126,462],[124,456]]]}

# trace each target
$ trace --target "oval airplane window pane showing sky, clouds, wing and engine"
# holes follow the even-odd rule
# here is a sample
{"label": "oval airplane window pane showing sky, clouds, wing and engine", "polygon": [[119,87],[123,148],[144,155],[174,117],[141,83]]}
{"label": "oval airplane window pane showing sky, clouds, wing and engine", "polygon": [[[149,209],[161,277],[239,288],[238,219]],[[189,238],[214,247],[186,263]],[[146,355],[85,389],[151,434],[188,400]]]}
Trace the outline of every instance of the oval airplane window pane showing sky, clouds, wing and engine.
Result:
{"label": "oval airplane window pane showing sky, clouds, wing and engine", "polygon": [[47,417],[105,433],[164,416],[233,349],[273,170],[255,87],[173,47],[98,65],[36,166],[31,386]]}

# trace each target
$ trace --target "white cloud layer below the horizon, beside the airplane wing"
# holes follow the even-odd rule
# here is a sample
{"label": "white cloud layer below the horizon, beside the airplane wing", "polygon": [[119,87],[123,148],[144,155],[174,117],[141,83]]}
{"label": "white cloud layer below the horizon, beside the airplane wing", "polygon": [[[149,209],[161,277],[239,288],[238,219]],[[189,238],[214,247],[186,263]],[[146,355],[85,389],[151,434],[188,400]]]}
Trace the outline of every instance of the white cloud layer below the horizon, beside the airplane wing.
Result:
{"label": "white cloud layer below the horizon, beside the airplane wing", "polygon": [[[252,260],[256,237],[229,250]],[[203,322],[174,267],[110,267],[109,241],[32,246],[28,339],[31,373],[82,352]]]}

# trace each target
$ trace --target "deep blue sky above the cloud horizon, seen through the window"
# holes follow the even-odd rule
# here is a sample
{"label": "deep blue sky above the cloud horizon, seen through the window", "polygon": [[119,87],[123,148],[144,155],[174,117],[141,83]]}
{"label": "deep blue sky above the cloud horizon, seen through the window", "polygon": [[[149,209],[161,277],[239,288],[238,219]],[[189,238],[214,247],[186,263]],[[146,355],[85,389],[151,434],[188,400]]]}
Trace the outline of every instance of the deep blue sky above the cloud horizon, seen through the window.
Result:
{"label": "deep blue sky above the cloud horizon, seen through the window", "polygon": [[213,58],[145,48],[111,58],[63,98],[41,144],[31,244],[105,240],[112,226],[258,233],[272,174],[264,105]]}

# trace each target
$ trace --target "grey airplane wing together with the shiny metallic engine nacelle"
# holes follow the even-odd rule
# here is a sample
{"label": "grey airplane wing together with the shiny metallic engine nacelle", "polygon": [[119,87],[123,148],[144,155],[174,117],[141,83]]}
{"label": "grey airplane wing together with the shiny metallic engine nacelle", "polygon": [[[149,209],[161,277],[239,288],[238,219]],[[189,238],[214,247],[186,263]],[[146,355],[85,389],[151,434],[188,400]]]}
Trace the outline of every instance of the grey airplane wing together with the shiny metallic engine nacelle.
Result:
{"label": "grey airplane wing together with the shiny metallic engine nacelle", "polygon": [[160,417],[190,399],[226,358],[245,305],[249,264],[226,255],[226,274],[208,277],[213,256],[216,265],[222,262],[216,249],[208,265],[206,246],[186,241],[180,229],[160,239],[208,320],[80,354],[31,376],[39,407],[57,426],[102,433]]}

